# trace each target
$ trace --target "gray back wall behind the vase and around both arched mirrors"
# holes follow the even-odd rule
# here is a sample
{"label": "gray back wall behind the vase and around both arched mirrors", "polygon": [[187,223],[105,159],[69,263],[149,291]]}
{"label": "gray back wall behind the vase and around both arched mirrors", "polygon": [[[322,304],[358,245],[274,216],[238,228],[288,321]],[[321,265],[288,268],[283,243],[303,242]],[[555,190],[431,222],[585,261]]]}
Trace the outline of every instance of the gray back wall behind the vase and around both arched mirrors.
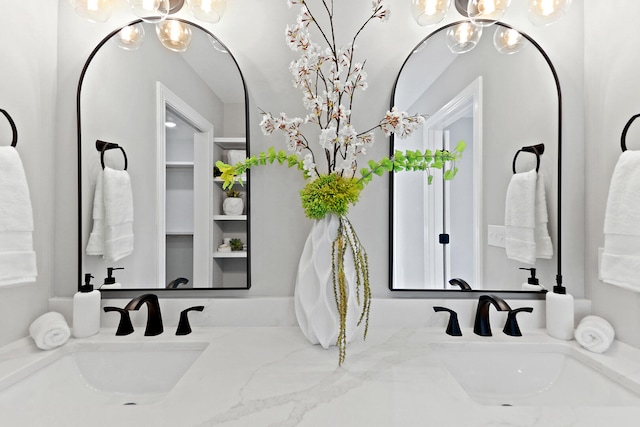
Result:
{"label": "gray back wall behind the vase and around both arched mirrors", "polygon": [[[391,19],[387,23],[373,22],[359,39],[358,58],[367,59],[369,88],[360,92],[354,108],[354,126],[366,129],[381,118],[389,106],[393,81],[404,58],[413,47],[431,30],[415,25],[407,2],[393,2]],[[250,7],[247,7],[250,4]],[[336,4],[337,14],[349,16],[352,22],[341,22],[339,28],[347,28],[349,33],[355,31],[361,19],[368,13],[370,2],[358,0],[339,2]],[[571,14],[562,24],[548,28],[536,28],[522,18],[524,6],[514,3],[510,12],[512,22],[538,38],[547,49],[552,60],[556,62],[560,79],[566,82],[565,94],[568,101],[566,108],[565,135],[570,141],[582,139],[582,51],[575,49],[582,43],[582,8],[575,4]],[[264,15],[270,19],[263,19]],[[117,14],[116,14],[117,15]],[[259,108],[278,114],[281,111],[289,115],[304,116],[302,94],[291,85],[288,65],[295,55],[284,43],[284,28],[295,21],[296,8],[289,9],[284,0],[238,1],[229,2],[224,19],[211,30],[228,45],[236,56],[243,70],[251,97],[251,145],[254,152],[265,150],[269,146],[284,147],[283,137],[274,135],[265,137],[258,128],[260,121]],[[457,19],[452,12],[451,19]],[[61,30],[59,56],[59,121],[58,139],[61,151],[68,157],[61,160],[65,169],[58,171],[61,182],[72,182],[70,169],[75,165],[71,161],[75,147],[74,114],[72,94],[75,91],[75,80],[80,71],[80,64],[95,45],[108,31],[119,23],[126,21],[124,13],[121,20],[118,16],[112,19],[103,30],[79,20],[66,4],[60,4],[59,20]],[[243,25],[238,25],[242,23]],[[83,37],[69,38],[62,34],[65,31],[83,34]],[[341,30],[342,32],[343,30]],[[255,40],[260,43],[255,43]],[[558,43],[560,40],[560,43]],[[268,48],[267,48],[268,47]],[[376,144],[371,158],[380,158],[388,153],[388,140],[382,134],[376,135]],[[572,159],[580,161],[582,148],[576,144],[571,153]],[[576,174],[571,174],[569,184],[573,188],[582,188],[582,167],[578,166]],[[310,222],[300,209],[298,191],[303,185],[300,173],[278,166],[257,168],[252,172],[253,212],[259,213],[252,223],[252,288],[240,293],[242,296],[288,296],[293,293],[297,260],[310,227]],[[573,179],[573,182],[571,180]],[[580,191],[581,193],[581,191]],[[361,201],[351,210],[351,219],[368,250],[369,256],[376,262],[371,264],[373,292],[376,297],[394,297],[388,290],[388,245],[386,201],[388,197],[388,177],[376,178],[361,195]],[[71,203],[69,203],[71,202]],[[574,250],[567,250],[567,284],[572,293],[582,296],[582,204],[580,200],[569,204],[569,215],[574,218],[567,232],[572,234],[569,245]],[[573,212],[571,210],[573,209]],[[73,200],[58,199],[60,218],[72,218],[75,215]],[[65,238],[56,242],[58,252],[75,250],[75,230],[66,230]],[[286,236],[286,238],[283,238]],[[68,259],[65,260],[69,264]],[[58,269],[56,272],[55,295],[69,296],[75,291],[74,268]]]}

